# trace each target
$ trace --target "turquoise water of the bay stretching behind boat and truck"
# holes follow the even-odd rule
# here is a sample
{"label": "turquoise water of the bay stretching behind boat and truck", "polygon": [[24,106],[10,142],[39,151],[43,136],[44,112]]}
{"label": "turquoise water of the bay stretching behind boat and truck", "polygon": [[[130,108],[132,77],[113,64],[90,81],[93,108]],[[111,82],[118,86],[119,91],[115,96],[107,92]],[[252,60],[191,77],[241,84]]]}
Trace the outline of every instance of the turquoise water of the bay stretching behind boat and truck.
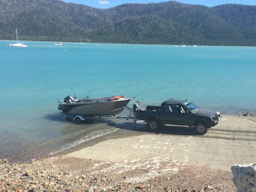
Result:
{"label": "turquoise water of the bay stretching behind boat and truck", "polygon": [[125,95],[141,106],[174,98],[223,114],[256,111],[256,47],[26,44],[0,41],[0,158],[54,153],[101,134],[97,124],[67,122],[44,86],[61,101],[73,95],[70,83],[78,98],[91,89],[92,98]]}

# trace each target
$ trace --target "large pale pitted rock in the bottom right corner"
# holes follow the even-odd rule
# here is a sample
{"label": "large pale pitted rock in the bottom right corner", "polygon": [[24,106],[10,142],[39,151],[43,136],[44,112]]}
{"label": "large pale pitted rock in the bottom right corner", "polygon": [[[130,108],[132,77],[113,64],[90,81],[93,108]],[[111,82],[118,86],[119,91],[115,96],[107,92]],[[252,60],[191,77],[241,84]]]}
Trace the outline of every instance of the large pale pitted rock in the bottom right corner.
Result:
{"label": "large pale pitted rock in the bottom right corner", "polygon": [[237,192],[256,192],[256,163],[233,165],[231,171]]}

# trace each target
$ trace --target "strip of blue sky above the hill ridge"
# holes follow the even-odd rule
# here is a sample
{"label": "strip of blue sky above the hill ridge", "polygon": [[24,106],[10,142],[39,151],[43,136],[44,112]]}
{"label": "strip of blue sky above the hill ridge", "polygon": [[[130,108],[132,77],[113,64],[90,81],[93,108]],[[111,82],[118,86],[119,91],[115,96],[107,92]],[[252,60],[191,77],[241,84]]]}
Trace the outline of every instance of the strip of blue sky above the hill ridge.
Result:
{"label": "strip of blue sky above the hill ridge", "polygon": [[[85,4],[97,8],[109,8],[125,3],[159,3],[164,2],[164,0],[62,0],[65,2]],[[245,5],[256,5],[256,0],[177,0],[181,3],[187,4],[201,4],[208,7],[215,5],[226,4],[226,3],[236,3]]]}

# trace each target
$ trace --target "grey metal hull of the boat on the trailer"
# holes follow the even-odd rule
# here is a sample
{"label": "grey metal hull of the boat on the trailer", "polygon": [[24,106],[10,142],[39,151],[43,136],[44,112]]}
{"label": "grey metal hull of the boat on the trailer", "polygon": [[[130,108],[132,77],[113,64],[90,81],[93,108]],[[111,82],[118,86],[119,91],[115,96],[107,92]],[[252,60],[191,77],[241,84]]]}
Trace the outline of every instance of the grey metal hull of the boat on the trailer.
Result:
{"label": "grey metal hull of the boat on the trailer", "polygon": [[121,113],[131,98],[114,100],[107,102],[79,102],[59,104],[59,109],[65,115],[85,115],[85,116],[115,116]]}

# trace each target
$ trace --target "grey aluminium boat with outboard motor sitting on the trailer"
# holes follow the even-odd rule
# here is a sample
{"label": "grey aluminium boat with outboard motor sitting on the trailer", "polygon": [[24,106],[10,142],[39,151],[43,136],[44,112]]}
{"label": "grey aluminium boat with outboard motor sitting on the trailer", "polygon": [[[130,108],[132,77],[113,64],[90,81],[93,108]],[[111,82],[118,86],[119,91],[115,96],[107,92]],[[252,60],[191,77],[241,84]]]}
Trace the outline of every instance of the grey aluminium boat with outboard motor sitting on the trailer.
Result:
{"label": "grey aluminium boat with outboard motor sitting on the trailer", "polygon": [[[76,98],[76,97],[75,97]],[[61,113],[70,116],[116,116],[121,113],[132,98],[113,96],[106,98],[75,99],[69,95],[60,103],[58,109]]]}

